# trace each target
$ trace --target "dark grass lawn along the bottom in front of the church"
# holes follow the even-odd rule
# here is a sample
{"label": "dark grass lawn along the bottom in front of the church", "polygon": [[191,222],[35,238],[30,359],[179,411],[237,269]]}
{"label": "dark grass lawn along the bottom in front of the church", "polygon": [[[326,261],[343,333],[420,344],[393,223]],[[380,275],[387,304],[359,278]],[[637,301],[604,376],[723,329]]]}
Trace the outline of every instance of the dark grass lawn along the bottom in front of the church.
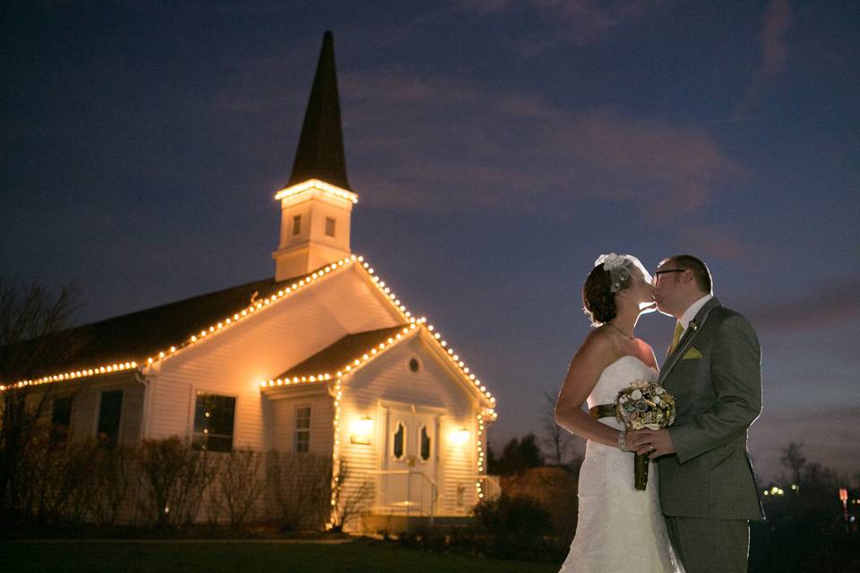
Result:
{"label": "dark grass lawn along the bottom in front of the church", "polygon": [[504,573],[557,571],[560,564],[492,560],[403,549],[390,543],[0,542],[4,573]]}

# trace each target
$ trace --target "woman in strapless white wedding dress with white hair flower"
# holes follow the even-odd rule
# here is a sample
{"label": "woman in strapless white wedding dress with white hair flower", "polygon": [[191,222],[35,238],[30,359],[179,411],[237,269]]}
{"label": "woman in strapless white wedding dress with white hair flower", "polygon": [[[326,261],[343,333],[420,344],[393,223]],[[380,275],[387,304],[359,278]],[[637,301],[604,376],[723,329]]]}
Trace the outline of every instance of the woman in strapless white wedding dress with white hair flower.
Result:
{"label": "woman in strapless white wedding dress with white hair flower", "polygon": [[[654,351],[633,336],[641,313],[654,310],[648,271],[631,255],[603,255],[582,287],[594,326],[573,356],[555,404],[555,421],[588,440],[579,482],[579,517],[561,573],[678,573],[658,500],[657,465],[644,492],[633,487],[633,454],[615,416],[599,417],[633,381],[657,381]],[[589,411],[582,409],[588,401]]]}

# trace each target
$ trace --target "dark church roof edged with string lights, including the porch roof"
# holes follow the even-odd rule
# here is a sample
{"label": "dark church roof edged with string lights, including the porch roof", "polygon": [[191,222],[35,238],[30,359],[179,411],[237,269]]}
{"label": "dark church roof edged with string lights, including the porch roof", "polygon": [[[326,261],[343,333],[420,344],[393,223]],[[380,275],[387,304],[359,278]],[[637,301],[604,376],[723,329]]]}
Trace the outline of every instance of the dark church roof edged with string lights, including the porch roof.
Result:
{"label": "dark church roof edged with string lights, including the porch roof", "polygon": [[[302,377],[305,374],[298,375],[298,372],[311,372],[315,368],[323,367],[327,372],[312,373],[307,376],[307,381],[319,381],[319,374],[324,374],[323,380],[330,380],[335,375],[340,378],[341,374],[360,368],[387,348],[397,345],[404,337],[409,336],[410,332],[426,330],[430,334],[429,339],[460,373],[460,378],[490,405],[487,413],[495,419],[493,407],[495,398],[475,374],[469,372],[469,367],[463,363],[460,356],[451,346],[448,346],[432,325],[426,324],[426,319],[413,317],[411,312],[400,303],[397,295],[375,275],[370,264],[363,257],[356,255],[332,262],[302,277],[288,278],[279,282],[275,282],[274,278],[265,278],[65,331],[61,333],[64,337],[67,337],[70,332],[80,335],[81,344],[76,345],[81,348],[80,351],[71,358],[56,363],[41,362],[39,369],[40,373],[58,372],[60,369],[66,372],[47,374],[42,378],[27,381],[0,380],[0,391],[13,387],[89,378],[109,372],[136,369],[145,374],[148,365],[168,360],[186,348],[203,342],[210,334],[217,333],[221,329],[229,329],[240,321],[250,319],[258,310],[270,304],[278,304],[298,291],[319,284],[331,273],[352,265],[363,270],[363,276],[379,290],[383,297],[389,299],[390,304],[400,312],[404,322],[396,327],[370,330],[340,338],[333,345],[312,355],[288,372],[284,372],[282,376],[289,376],[288,381],[282,379],[262,381],[261,386],[263,388],[280,386],[296,377],[304,382]],[[406,321],[409,323],[407,324]],[[59,339],[60,335],[57,337]],[[67,338],[63,339],[67,342]],[[47,346],[50,342],[51,340],[37,340],[13,347],[0,347],[0,372],[7,372],[4,368],[6,361],[13,353],[21,353],[22,347],[26,349],[28,345]],[[356,354],[359,349],[362,350],[360,357]],[[147,355],[149,357],[144,358]],[[136,360],[145,361],[145,363],[137,363]],[[343,362],[340,362],[341,360]],[[349,363],[350,360],[352,363]],[[99,364],[103,365],[99,366]],[[332,372],[335,368],[338,372]]]}

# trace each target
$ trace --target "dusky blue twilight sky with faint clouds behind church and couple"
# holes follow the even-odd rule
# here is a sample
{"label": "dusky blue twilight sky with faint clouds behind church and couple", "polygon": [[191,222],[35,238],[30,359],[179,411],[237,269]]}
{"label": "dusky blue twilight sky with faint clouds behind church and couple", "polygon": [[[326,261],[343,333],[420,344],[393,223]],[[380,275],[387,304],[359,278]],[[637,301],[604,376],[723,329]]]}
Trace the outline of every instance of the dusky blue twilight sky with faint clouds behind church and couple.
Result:
{"label": "dusky blue twilight sky with faint clouds behind church and couple", "polygon": [[[0,273],[80,322],[274,273],[323,31],[363,254],[539,432],[603,252],[704,258],[764,355],[760,474],[860,471],[860,4],[4,3]],[[658,357],[673,322],[637,334]]]}

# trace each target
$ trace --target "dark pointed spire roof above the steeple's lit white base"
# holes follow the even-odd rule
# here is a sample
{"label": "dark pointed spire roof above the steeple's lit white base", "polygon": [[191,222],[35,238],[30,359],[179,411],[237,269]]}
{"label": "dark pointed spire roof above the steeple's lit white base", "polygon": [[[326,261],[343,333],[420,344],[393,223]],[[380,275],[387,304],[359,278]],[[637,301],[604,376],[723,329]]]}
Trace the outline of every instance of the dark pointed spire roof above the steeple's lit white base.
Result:
{"label": "dark pointed spire roof above the steeple's lit white base", "polygon": [[287,186],[320,179],[352,191],[347,181],[347,162],[340,131],[338,78],[334,69],[334,36],[323,35],[323,49],[316,65],[314,87],[307,102],[305,122],[298,141],[293,171]]}

